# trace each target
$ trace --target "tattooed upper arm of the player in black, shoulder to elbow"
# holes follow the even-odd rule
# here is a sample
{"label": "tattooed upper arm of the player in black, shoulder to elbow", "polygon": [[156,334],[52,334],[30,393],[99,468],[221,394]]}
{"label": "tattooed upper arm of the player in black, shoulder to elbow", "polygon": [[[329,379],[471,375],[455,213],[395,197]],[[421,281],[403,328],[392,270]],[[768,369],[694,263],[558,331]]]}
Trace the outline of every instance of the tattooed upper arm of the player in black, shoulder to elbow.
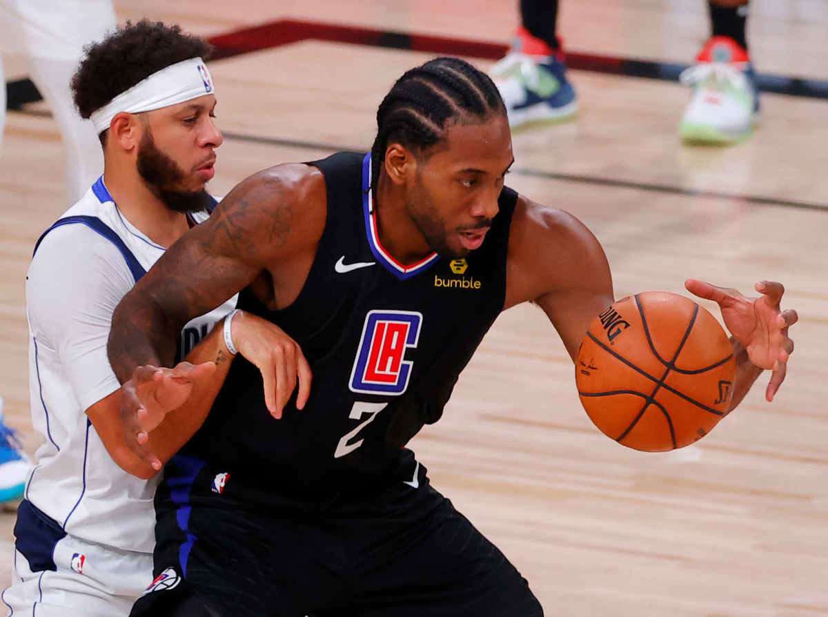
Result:
{"label": "tattooed upper arm of the player in black, shoulder to elbow", "polygon": [[121,383],[137,366],[170,366],[187,321],[227,301],[270,265],[291,233],[289,196],[285,183],[267,172],[243,181],[123,297],[108,340]]}

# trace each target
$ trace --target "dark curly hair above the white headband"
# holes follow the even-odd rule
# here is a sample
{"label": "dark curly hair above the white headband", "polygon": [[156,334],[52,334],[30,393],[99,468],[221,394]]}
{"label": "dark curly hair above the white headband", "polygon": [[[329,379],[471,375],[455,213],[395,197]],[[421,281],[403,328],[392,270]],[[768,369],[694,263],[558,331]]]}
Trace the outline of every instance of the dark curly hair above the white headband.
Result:
{"label": "dark curly hair above the white headband", "polygon": [[103,41],[84,47],[84,60],[72,77],[72,96],[81,118],[118,94],[167,66],[202,57],[213,47],[196,36],[181,32],[180,26],[142,19],[127,22]]}

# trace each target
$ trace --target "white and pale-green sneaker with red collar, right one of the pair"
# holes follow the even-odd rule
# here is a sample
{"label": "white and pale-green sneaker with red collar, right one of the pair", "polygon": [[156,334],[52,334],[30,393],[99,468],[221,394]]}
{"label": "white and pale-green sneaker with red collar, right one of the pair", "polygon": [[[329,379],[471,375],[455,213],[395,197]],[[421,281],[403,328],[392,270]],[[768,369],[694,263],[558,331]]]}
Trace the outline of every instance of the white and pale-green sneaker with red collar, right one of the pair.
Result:
{"label": "white and pale-green sneaker with red collar, right one of the pair", "polygon": [[726,145],[753,134],[759,97],[748,52],[729,36],[714,36],[684,70],[681,84],[693,95],[679,124],[681,140]]}

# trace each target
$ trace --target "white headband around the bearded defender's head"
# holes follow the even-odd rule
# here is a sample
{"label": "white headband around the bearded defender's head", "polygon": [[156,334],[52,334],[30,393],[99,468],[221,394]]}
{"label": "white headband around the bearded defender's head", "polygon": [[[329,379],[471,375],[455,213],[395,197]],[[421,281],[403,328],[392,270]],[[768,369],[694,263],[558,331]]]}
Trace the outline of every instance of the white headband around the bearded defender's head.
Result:
{"label": "white headband around the bearded defender's head", "polygon": [[126,92],[98,109],[89,117],[95,125],[95,133],[109,129],[118,113],[141,113],[214,94],[213,77],[200,58],[190,58],[167,66],[153,73],[146,80],[133,85]]}

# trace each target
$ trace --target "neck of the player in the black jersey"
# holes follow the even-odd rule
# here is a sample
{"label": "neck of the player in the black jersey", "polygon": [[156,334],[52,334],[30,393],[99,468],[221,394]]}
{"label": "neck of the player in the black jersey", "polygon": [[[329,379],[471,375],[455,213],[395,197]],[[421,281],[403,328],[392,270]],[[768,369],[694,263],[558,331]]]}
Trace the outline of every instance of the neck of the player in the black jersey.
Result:
{"label": "neck of the player in the black jersey", "polygon": [[373,195],[379,243],[397,262],[411,266],[434,253],[434,249],[408,215],[405,187],[394,184],[385,170],[380,173]]}

